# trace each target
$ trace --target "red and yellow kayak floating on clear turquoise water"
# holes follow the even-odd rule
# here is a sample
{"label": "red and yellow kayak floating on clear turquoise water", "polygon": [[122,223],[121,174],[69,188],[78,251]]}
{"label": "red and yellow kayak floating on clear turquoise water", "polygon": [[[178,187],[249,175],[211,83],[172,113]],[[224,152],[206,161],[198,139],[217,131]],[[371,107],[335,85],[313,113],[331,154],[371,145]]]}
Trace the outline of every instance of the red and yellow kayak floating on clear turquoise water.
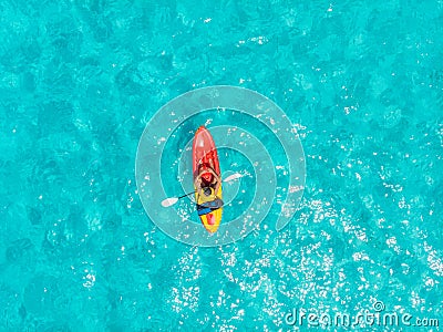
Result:
{"label": "red and yellow kayak floating on clear turquoise water", "polygon": [[[194,180],[205,167],[210,167],[210,169],[214,170],[214,173],[218,176],[218,179],[222,181],[220,165],[213,136],[205,126],[200,126],[195,133],[193,143]],[[197,188],[195,189],[197,190]],[[216,196],[214,201],[208,201],[208,198],[198,195],[198,191],[195,194],[199,218],[203,226],[209,232],[217,231],[218,227],[220,226],[223,214],[222,184],[219,185],[217,193],[214,194]],[[216,201],[222,201],[222,205],[216,206]],[[212,207],[208,208],[207,206]]]}

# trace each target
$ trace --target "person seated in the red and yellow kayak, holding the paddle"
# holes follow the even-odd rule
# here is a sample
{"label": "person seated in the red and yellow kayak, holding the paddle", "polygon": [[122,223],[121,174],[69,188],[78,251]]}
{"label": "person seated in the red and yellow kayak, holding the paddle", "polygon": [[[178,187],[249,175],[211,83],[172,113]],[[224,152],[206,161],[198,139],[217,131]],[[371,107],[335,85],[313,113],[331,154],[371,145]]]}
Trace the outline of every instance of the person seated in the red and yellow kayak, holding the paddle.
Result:
{"label": "person seated in the red and yellow kayak, holding the paddle", "polygon": [[196,176],[194,185],[203,204],[197,205],[198,214],[205,215],[223,206],[223,200],[217,197],[222,179],[215,173],[213,165],[200,165],[200,172]]}

